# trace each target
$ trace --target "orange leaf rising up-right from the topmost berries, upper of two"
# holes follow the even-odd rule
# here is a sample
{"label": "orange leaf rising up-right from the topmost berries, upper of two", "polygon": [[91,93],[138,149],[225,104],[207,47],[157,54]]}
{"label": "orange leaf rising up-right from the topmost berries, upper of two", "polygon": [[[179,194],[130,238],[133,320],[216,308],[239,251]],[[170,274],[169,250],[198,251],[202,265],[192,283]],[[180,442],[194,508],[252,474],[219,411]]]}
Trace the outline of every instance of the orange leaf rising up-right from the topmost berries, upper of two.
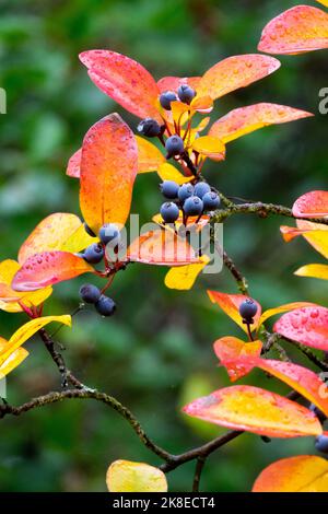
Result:
{"label": "orange leaf rising up-right from the topmost berries, upper of two", "polygon": [[204,73],[199,82],[197,94],[209,95],[213,100],[220,98],[273,73],[279,67],[279,60],[258,54],[229,57]]}

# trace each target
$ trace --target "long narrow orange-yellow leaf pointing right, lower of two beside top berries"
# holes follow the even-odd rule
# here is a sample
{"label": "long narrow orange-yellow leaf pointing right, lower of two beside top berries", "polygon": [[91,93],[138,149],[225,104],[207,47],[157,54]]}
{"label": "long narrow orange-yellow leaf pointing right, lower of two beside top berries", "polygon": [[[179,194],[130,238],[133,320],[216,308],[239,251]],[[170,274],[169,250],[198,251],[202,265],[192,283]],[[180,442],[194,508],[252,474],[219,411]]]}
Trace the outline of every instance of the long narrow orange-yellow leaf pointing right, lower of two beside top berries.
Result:
{"label": "long narrow orange-yellow leaf pointing right, lower of two beside top berries", "polygon": [[221,139],[224,143],[229,143],[262,127],[285,124],[308,116],[313,115],[285,105],[267,103],[248,105],[247,107],[231,110],[218,119],[212,125],[209,135]]}

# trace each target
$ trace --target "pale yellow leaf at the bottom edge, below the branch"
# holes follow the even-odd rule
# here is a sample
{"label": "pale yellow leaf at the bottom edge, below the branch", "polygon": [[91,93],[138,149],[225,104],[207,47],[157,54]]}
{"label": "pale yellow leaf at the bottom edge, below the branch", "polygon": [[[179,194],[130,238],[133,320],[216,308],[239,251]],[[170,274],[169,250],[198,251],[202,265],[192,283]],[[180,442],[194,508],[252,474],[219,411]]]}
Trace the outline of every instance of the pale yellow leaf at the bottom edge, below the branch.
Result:
{"label": "pale yellow leaf at the bottom edge, below the branch", "polygon": [[109,492],[166,492],[166,477],[161,469],[144,463],[115,460],[108,468]]}

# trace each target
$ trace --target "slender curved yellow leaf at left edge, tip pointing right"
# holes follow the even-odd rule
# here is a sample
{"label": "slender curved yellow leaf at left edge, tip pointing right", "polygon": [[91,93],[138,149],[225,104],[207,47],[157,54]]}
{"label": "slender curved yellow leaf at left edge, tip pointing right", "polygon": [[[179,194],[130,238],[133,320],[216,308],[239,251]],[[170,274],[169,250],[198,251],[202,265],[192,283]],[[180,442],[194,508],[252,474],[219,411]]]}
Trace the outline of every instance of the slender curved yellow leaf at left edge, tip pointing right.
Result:
{"label": "slender curved yellow leaf at left edge, tip pointing right", "polygon": [[63,325],[71,326],[71,316],[65,314],[62,316],[44,316],[31,322],[25,323],[20,327],[9,339],[8,344],[2,348],[0,351],[0,365],[2,365],[7,359],[24,342],[27,341],[34,334],[40,330],[43,327],[48,325],[51,322],[62,323]]}

